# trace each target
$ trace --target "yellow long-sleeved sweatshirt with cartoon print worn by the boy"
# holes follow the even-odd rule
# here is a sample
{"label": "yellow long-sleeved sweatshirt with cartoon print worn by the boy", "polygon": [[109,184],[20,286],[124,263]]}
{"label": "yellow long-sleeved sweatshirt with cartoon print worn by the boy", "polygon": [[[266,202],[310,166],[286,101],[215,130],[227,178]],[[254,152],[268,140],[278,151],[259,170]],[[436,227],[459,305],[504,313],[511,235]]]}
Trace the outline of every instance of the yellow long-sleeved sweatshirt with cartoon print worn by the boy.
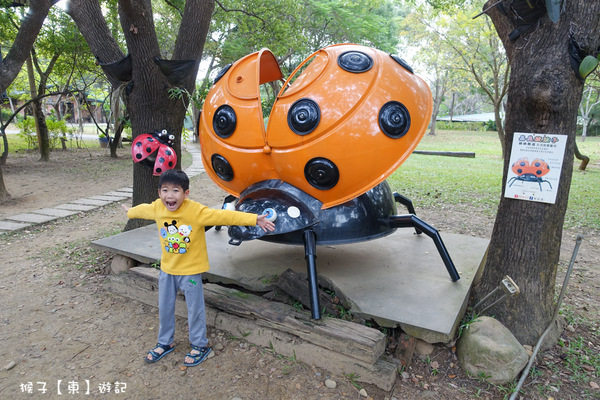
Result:
{"label": "yellow long-sleeved sweatshirt with cartoon print worn by the boy", "polygon": [[208,271],[205,226],[256,225],[256,214],[216,210],[185,199],[181,207],[169,211],[160,199],[127,211],[129,218],[156,221],[162,256],[160,268],[171,275],[195,275]]}

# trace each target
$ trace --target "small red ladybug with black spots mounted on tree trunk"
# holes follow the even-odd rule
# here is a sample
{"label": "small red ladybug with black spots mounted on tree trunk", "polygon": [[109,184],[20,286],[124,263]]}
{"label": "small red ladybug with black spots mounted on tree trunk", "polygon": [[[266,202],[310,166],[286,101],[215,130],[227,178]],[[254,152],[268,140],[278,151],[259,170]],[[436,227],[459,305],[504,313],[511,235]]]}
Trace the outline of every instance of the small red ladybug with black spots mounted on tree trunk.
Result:
{"label": "small red ladybug with black spots mounted on tree trunk", "polygon": [[134,162],[142,163],[154,170],[154,176],[159,176],[168,169],[175,168],[177,154],[173,150],[175,135],[166,129],[153,134],[138,135],[131,145],[131,156]]}

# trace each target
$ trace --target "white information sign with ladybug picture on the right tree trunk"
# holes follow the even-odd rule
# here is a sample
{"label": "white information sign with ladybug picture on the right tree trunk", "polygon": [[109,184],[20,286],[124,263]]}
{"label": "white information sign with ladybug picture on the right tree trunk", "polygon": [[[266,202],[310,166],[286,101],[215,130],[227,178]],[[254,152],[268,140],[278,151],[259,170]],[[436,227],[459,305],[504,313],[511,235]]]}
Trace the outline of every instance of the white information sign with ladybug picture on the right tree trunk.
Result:
{"label": "white information sign with ladybug picture on the right tree trunk", "polygon": [[567,135],[515,132],[504,197],[554,204]]}

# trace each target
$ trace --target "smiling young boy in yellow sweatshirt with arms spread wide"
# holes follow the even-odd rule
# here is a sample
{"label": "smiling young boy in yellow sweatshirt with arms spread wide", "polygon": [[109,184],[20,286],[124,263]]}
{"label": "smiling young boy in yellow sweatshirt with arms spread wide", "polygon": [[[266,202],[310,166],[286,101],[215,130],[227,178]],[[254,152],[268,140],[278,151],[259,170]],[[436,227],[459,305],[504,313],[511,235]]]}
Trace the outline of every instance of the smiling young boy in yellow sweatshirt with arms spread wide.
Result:
{"label": "smiling young boy in yellow sweatshirt with arms spread wide", "polygon": [[211,352],[206,338],[206,315],[202,273],[208,271],[205,226],[260,226],[265,232],[275,225],[264,215],[216,210],[189,200],[189,178],[183,171],[167,170],[158,181],[159,199],[151,204],[127,208],[127,217],[156,221],[162,245],[158,278],[158,343],[148,352],[146,362],[154,363],[174,349],[175,298],[180,289],[188,309],[192,350],[185,366],[195,366]]}

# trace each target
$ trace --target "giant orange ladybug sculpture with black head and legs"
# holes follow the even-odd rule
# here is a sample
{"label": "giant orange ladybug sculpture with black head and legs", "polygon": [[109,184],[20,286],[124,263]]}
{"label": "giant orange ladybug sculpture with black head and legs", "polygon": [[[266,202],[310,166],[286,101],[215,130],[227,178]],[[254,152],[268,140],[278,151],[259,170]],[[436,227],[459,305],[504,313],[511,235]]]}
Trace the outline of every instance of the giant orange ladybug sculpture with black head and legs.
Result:
{"label": "giant orange ladybug sculpture with black head and legs", "polygon": [[[230,227],[230,243],[304,243],[314,318],[317,244],[374,239],[412,226],[434,239],[458,280],[437,231],[385,182],[427,129],[427,84],[396,55],[354,44],[329,46],[284,82],[265,127],[260,85],[278,80],[283,74],[269,50],[250,54],[219,72],[198,119],[206,172],[231,194],[231,205],[277,218],[269,235]],[[394,215],[395,202],[411,214]]]}

